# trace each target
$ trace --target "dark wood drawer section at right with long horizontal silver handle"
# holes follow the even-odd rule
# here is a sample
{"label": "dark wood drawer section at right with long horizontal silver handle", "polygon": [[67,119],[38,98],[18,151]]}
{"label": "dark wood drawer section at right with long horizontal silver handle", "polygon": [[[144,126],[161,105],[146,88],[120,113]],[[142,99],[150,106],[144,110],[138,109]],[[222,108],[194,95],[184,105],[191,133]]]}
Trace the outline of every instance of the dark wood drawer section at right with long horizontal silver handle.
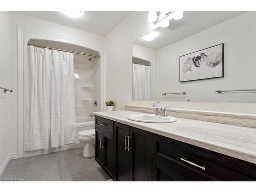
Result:
{"label": "dark wood drawer section at right with long horizontal silver handle", "polygon": [[167,178],[178,181],[256,180],[253,163],[156,134],[152,144],[154,181]]}

